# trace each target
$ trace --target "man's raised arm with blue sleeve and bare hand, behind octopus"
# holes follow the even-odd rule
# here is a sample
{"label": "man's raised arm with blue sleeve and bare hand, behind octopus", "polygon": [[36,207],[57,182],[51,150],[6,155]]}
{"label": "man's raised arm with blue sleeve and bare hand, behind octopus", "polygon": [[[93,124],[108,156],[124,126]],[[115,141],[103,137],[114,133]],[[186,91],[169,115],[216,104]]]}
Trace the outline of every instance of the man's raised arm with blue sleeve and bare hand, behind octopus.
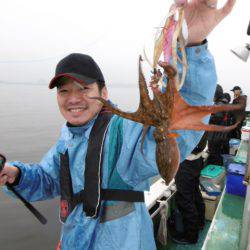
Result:
{"label": "man's raised arm with blue sleeve and bare hand, behind octopus", "polygon": [[[216,8],[216,0],[179,1],[184,4],[189,31],[186,48],[188,72],[180,93],[191,105],[212,104],[217,77],[213,57],[207,50],[207,44],[203,44],[203,41],[216,25],[230,13],[235,1],[228,0],[221,9]],[[154,128],[150,128],[147,133],[143,146],[144,154],[142,154],[142,125],[124,120],[124,127],[126,128],[124,130],[124,143],[117,168],[124,181],[136,186],[158,174],[155,161]],[[177,138],[177,142],[181,160],[184,160],[198,144],[203,132],[178,131],[178,133],[180,136]]]}

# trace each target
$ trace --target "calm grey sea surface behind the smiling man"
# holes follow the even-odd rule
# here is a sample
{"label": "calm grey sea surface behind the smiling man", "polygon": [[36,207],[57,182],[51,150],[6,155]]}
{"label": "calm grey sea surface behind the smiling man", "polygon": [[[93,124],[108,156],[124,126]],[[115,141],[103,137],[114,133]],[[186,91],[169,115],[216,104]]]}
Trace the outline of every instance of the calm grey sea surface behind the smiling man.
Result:
{"label": "calm grey sea surface behind the smiling man", "polygon": [[[121,109],[138,105],[135,87],[108,88],[110,99]],[[8,160],[39,162],[56,142],[64,124],[56,91],[46,85],[0,83],[0,152]],[[56,249],[60,235],[59,200],[33,203],[48,219],[41,225],[17,200],[0,188],[0,249]]]}

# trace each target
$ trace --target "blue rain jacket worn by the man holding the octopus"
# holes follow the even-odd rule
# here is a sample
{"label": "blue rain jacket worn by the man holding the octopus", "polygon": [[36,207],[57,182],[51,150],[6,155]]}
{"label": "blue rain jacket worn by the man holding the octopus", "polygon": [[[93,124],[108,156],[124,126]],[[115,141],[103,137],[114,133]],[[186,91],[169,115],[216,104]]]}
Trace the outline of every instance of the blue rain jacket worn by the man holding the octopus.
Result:
{"label": "blue rain jacket worn by the man holding the octopus", "polygon": [[[216,72],[214,61],[207,45],[186,48],[188,74],[181,95],[192,105],[210,105],[215,92]],[[112,120],[114,117],[112,118]],[[111,120],[111,122],[112,122]],[[59,153],[68,150],[74,193],[84,188],[85,156],[88,138],[94,120],[82,127],[63,126],[56,145],[39,164],[11,162],[21,169],[21,179],[16,186],[27,200],[52,199],[60,195]],[[110,127],[109,127],[110,128]],[[155,162],[155,141],[151,128],[145,138],[141,154],[143,126],[123,119],[123,144],[116,168],[121,179],[134,190],[148,190],[150,178],[158,175]],[[103,188],[107,188],[108,150],[110,129],[104,144]],[[178,131],[177,138],[181,159],[193,150],[202,132]],[[62,224],[61,249],[63,250],[153,250],[156,249],[153,225],[144,203],[135,203],[135,210],[119,219],[100,223],[99,219],[85,216],[82,204],[78,204]]]}

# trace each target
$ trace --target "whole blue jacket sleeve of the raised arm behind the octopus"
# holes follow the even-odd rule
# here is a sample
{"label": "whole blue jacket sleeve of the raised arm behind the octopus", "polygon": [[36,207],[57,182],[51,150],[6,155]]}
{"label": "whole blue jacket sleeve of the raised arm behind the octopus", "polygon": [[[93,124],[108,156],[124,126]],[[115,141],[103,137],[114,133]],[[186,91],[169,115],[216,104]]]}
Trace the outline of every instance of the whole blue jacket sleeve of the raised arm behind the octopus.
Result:
{"label": "whole blue jacket sleeve of the raised arm behind the octopus", "polygon": [[[211,105],[215,88],[216,72],[212,55],[207,44],[186,48],[188,72],[185,84],[180,90],[182,97],[191,105]],[[205,122],[208,122],[208,118]],[[142,125],[124,120],[123,146],[117,169],[123,180],[137,186],[148,178],[158,174],[155,162],[156,143],[154,128],[150,128],[141,152]],[[183,161],[199,143],[203,132],[179,130],[177,138],[181,161]]]}

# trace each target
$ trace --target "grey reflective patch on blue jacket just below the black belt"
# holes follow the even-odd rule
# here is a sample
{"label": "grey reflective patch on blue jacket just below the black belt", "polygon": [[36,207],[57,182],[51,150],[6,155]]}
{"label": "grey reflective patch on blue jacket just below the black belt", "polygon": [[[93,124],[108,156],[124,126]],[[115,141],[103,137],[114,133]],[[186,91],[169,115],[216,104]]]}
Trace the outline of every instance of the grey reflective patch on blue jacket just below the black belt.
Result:
{"label": "grey reflective patch on blue jacket just below the black belt", "polygon": [[135,205],[133,202],[117,202],[115,205],[108,205],[103,207],[100,223],[119,219],[125,215],[128,215],[135,211]]}

